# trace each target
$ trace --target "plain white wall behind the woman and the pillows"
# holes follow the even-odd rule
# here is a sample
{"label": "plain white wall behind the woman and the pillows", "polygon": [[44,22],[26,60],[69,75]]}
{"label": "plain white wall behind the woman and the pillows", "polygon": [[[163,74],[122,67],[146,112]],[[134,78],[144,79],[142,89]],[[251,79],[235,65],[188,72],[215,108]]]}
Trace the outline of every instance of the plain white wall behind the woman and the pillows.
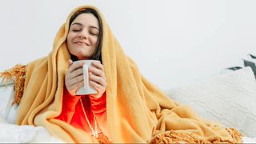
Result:
{"label": "plain white wall behind the woman and the pillows", "polygon": [[102,10],[142,74],[163,90],[256,53],[253,0],[8,0],[0,2],[0,70],[47,55],[66,16],[83,4]]}

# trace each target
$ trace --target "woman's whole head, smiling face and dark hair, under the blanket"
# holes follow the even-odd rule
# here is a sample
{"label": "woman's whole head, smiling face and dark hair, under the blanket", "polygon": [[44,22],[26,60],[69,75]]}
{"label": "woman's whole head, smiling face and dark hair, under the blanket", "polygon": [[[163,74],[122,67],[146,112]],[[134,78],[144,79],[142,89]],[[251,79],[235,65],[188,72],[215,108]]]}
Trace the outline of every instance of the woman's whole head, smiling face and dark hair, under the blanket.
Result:
{"label": "woman's whole head, smiling face and dark hair, under the blanket", "polygon": [[98,13],[85,9],[74,14],[66,42],[70,54],[76,56],[73,58],[98,60],[102,50],[102,20]]}

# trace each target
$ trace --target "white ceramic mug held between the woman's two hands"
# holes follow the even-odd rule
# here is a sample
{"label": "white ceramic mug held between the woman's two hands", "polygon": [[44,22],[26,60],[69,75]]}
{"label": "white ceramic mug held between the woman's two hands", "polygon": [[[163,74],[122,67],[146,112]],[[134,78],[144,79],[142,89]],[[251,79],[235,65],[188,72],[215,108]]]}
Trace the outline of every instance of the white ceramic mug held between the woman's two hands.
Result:
{"label": "white ceramic mug held between the woman's two hands", "polygon": [[82,66],[84,84],[81,88],[77,90],[76,95],[97,94],[98,91],[90,86],[88,67],[92,67],[92,62],[99,62],[99,61],[98,60],[78,60],[78,61],[74,61],[73,63],[78,63],[78,62],[84,62],[84,65]]}

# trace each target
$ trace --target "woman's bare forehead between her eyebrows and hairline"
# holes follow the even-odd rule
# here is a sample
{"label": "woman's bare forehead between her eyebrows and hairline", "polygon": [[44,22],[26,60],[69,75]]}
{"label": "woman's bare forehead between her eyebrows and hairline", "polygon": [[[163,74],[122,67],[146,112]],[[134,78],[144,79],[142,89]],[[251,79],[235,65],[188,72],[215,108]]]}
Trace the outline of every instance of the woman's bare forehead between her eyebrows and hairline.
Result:
{"label": "woman's bare forehead between her eyebrows and hairline", "polygon": [[74,22],[81,23],[83,26],[98,27],[98,19],[94,16],[94,14],[90,14],[90,13],[79,14],[78,17],[75,18],[74,21],[71,23],[71,25]]}

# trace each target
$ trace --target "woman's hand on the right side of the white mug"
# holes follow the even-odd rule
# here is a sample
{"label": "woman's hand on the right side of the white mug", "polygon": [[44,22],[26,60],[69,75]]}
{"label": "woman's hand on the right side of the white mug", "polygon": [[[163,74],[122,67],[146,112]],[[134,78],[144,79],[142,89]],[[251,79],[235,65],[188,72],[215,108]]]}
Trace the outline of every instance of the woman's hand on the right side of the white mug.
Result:
{"label": "woman's hand on the right side of the white mug", "polygon": [[93,62],[92,65],[89,67],[89,83],[90,86],[98,91],[98,94],[90,94],[90,96],[100,98],[106,91],[104,67],[100,62]]}

